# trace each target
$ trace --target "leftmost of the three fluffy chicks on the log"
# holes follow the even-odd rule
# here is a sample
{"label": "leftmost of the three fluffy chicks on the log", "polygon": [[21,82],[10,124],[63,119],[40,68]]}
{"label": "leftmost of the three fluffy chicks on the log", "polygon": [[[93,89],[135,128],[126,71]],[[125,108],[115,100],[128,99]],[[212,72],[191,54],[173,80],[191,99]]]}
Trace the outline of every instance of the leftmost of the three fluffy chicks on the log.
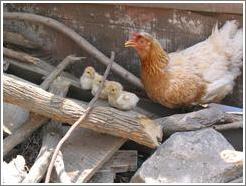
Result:
{"label": "leftmost of the three fluffy chicks on the log", "polygon": [[96,71],[93,67],[88,66],[85,68],[83,75],[80,77],[80,85],[84,90],[92,89],[92,82],[95,77]]}

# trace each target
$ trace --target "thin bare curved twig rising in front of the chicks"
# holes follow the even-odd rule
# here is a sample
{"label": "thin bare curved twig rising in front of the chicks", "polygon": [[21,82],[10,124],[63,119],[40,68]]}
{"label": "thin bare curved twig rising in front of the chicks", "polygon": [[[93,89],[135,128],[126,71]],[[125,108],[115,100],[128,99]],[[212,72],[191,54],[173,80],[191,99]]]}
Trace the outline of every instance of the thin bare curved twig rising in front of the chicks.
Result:
{"label": "thin bare curved twig rising in front of the chicks", "polygon": [[105,79],[107,78],[108,74],[109,74],[109,71],[110,71],[110,68],[113,64],[113,61],[114,61],[114,57],[115,57],[115,53],[112,52],[111,53],[111,63],[107,66],[107,69],[103,75],[103,81],[102,81],[102,84],[101,86],[99,87],[96,95],[94,96],[94,98],[89,102],[84,114],[70,127],[70,129],[67,131],[67,133],[64,135],[64,137],[59,141],[55,151],[54,151],[54,154],[52,156],[52,159],[51,159],[51,162],[50,162],[50,165],[48,167],[48,171],[47,171],[47,174],[46,174],[46,178],[45,178],[45,183],[49,183],[49,180],[50,180],[50,175],[51,175],[51,171],[53,169],[53,166],[54,166],[54,163],[55,163],[55,160],[56,160],[56,157],[59,153],[59,150],[62,146],[62,144],[69,138],[69,136],[72,134],[72,132],[74,131],[74,129],[87,117],[87,115],[90,113],[90,111],[93,109],[93,106],[95,104],[95,102],[97,101],[101,91],[102,91],[102,88],[103,88],[103,85],[104,85],[104,82],[105,82]]}

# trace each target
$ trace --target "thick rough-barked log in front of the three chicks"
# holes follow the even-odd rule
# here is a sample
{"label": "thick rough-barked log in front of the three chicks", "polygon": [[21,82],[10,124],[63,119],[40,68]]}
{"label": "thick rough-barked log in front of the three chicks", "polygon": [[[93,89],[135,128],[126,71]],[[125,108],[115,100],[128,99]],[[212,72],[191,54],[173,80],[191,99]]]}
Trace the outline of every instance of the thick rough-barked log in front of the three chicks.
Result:
{"label": "thick rough-barked log in front of the three chicks", "polygon": [[[80,106],[8,75],[3,75],[3,85],[4,101],[57,121],[73,124],[85,112],[85,105]],[[108,107],[95,107],[80,126],[128,138],[150,148],[156,148],[162,138],[161,127],[144,115]]]}

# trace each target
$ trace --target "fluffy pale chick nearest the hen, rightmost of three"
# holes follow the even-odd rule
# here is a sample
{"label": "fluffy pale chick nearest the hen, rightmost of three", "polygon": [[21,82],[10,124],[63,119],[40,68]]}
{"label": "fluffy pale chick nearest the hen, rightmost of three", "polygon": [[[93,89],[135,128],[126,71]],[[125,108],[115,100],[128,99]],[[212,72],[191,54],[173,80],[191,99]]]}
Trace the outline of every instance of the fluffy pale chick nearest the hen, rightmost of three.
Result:
{"label": "fluffy pale chick nearest the hen, rightmost of three", "polygon": [[131,110],[136,107],[139,101],[135,94],[123,91],[122,85],[115,81],[107,83],[106,92],[109,104],[121,110]]}

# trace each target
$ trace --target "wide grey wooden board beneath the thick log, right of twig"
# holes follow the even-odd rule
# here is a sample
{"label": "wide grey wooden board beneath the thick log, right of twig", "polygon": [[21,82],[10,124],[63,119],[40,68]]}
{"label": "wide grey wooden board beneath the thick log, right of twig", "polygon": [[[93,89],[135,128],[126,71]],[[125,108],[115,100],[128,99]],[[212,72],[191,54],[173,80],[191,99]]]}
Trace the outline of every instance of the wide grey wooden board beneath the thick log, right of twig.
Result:
{"label": "wide grey wooden board beneath the thick log, right of twig", "polygon": [[125,139],[79,128],[61,152],[72,182],[87,182],[125,142]]}

